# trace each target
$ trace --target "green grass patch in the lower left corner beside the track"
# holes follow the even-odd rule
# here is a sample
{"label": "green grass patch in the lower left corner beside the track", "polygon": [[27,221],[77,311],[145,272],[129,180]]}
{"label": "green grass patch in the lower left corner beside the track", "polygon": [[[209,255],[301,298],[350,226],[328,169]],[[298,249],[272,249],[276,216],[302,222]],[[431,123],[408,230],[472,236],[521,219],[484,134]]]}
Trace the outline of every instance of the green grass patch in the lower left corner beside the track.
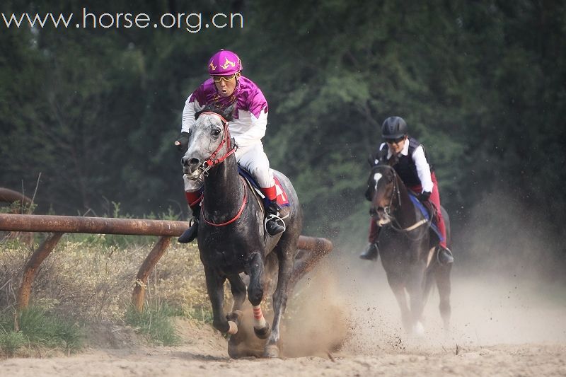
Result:
{"label": "green grass patch in the lower left corner beside the track", "polygon": [[18,330],[12,313],[0,316],[0,349],[8,356],[26,345],[62,349],[69,353],[83,346],[83,334],[78,326],[37,306],[18,313],[17,321]]}

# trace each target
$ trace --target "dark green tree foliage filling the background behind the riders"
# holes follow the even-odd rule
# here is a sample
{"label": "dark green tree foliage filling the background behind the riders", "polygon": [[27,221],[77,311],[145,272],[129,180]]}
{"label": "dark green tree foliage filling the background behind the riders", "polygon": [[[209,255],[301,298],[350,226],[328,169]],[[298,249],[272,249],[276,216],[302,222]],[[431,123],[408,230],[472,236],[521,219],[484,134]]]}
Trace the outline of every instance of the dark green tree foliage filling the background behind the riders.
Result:
{"label": "dark green tree foliage filling the background behind the riders", "polygon": [[[0,33],[0,185],[57,214],[186,209],[172,142],[219,48],[270,103],[265,137],[305,233],[364,237],[366,157],[390,115],[408,121],[465,226],[486,193],[565,220],[566,17],[560,1],[128,1],[89,11],[236,11],[242,29],[7,29]],[[73,1],[6,12],[78,11]],[[204,16],[203,16],[204,18]],[[106,211],[108,213],[109,211]],[[564,234],[556,221],[553,231]]]}

